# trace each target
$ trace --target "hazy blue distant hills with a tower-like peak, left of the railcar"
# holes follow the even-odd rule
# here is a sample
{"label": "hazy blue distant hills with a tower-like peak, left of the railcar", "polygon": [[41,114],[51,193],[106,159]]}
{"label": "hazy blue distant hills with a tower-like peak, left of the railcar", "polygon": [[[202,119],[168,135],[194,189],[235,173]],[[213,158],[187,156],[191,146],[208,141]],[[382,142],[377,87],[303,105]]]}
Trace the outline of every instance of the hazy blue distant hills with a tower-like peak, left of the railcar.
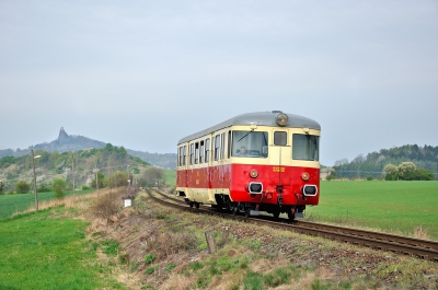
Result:
{"label": "hazy blue distant hills with a tower-like peak, left of the railcar", "polygon": [[[76,135],[68,135],[64,127],[59,130],[58,138],[51,142],[44,142],[36,146],[28,147],[27,149],[4,149],[0,150],[0,158],[3,156],[14,156],[19,158],[22,155],[30,154],[31,149],[35,150],[43,150],[47,152],[76,152],[79,150],[88,150],[88,149],[99,149],[104,148],[106,146],[105,142],[93,140],[83,136],[76,136]],[[174,170],[176,166],[176,154],[175,153],[149,153],[143,151],[136,151],[126,149],[126,151],[131,154],[132,156],[137,156],[150,164]]]}

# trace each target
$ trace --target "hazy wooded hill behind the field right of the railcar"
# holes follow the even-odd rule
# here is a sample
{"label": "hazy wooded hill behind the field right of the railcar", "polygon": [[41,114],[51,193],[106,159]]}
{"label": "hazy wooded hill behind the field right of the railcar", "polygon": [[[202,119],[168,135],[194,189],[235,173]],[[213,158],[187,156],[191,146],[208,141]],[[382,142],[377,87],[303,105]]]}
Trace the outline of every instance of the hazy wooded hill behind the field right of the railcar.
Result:
{"label": "hazy wooded hill behind the field right of the railcar", "polygon": [[381,149],[379,152],[359,154],[351,162],[342,159],[335,162],[332,173],[336,178],[373,178],[382,177],[382,171],[388,164],[400,165],[402,162],[413,162],[418,169],[434,172],[438,178],[438,147],[405,144],[391,149]]}

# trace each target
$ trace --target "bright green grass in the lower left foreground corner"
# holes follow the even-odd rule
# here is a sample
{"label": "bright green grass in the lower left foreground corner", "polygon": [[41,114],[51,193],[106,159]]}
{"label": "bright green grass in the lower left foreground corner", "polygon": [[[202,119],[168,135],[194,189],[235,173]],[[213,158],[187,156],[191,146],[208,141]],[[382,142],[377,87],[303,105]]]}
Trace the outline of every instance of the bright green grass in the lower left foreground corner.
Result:
{"label": "bright green grass in the lower left foreground corner", "polygon": [[[84,221],[58,207],[0,221],[0,289],[123,289],[96,263]],[[105,274],[106,278],[103,278]]]}

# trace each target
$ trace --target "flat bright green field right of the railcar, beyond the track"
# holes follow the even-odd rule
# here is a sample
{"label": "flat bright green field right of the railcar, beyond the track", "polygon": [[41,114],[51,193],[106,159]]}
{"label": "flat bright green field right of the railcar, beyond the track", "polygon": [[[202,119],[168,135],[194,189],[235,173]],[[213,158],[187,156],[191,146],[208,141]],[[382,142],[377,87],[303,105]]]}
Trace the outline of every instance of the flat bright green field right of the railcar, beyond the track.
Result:
{"label": "flat bright green field right of the railcar, beyond the track", "polygon": [[306,214],[404,235],[420,227],[438,240],[438,182],[322,182],[320,205]]}

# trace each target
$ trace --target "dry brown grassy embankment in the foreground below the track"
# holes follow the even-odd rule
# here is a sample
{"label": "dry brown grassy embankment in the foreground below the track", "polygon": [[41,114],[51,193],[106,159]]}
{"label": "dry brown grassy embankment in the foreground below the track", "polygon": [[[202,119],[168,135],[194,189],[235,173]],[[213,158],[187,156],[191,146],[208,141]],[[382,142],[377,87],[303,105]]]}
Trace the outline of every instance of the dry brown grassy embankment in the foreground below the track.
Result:
{"label": "dry brown grassy embankment in the foreground below the track", "polygon": [[117,243],[116,254],[106,256],[131,289],[438,288],[434,262],[176,211],[145,193],[134,205],[89,227],[102,253],[104,241]]}

